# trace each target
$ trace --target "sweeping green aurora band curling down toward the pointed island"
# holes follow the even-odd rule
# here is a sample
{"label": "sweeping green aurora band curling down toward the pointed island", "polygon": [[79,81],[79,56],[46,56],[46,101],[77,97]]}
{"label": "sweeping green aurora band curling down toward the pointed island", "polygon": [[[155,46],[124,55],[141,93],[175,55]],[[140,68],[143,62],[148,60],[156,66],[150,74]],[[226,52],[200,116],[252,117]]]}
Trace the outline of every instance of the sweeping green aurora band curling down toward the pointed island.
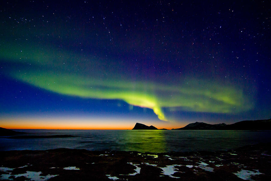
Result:
{"label": "sweeping green aurora band curling down toward the pointed island", "polygon": [[[19,47],[19,48],[18,48]],[[35,48],[33,48],[35,47]],[[2,46],[4,74],[59,94],[93,99],[123,100],[149,108],[160,120],[167,111],[239,113],[253,108],[243,90],[219,81],[183,78],[177,83],[129,78],[116,61],[104,62],[79,53],[38,46]],[[103,62],[103,63],[101,63]]]}

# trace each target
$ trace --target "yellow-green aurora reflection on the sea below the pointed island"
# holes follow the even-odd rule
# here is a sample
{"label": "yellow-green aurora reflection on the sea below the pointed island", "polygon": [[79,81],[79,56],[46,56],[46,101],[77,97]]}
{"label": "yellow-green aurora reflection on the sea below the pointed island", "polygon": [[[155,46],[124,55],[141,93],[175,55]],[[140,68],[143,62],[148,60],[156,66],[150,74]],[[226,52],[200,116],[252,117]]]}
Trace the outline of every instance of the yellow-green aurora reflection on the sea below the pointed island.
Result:
{"label": "yellow-green aurora reflection on the sea below the pointed island", "polygon": [[168,130],[131,130],[125,132],[123,138],[125,151],[166,152],[166,138]]}

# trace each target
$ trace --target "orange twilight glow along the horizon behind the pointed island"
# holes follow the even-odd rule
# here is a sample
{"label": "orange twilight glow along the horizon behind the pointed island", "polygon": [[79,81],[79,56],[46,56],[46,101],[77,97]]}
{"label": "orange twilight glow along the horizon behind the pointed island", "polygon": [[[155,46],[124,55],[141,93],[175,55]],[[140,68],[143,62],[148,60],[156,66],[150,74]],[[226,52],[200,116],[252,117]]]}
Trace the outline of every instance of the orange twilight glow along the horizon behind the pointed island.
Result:
{"label": "orange twilight glow along the horizon behind the pointed island", "polygon": [[181,128],[184,125],[169,122],[114,119],[2,119],[0,127],[6,129],[132,129],[136,122],[153,125],[158,129]]}

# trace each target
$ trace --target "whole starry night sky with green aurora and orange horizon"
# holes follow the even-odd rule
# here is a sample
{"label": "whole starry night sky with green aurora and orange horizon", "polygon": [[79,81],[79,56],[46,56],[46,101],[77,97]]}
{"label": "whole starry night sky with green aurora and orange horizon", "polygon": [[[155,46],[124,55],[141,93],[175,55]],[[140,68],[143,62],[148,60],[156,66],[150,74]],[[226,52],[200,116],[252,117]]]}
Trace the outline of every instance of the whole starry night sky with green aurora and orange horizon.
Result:
{"label": "whole starry night sky with green aurora and orange horizon", "polygon": [[269,1],[0,5],[0,125],[179,128],[271,117]]}

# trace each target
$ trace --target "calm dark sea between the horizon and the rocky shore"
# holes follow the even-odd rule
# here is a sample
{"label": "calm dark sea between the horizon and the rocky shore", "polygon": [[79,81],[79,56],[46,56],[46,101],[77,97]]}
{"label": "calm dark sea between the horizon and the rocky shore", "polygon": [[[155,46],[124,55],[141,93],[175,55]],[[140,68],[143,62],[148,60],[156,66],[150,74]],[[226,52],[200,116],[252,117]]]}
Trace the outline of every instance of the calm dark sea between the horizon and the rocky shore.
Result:
{"label": "calm dark sea between the horizon and the rocky shore", "polygon": [[70,138],[0,138],[0,151],[76,148],[140,152],[219,151],[270,142],[271,131],[224,130],[16,130],[24,135],[75,135]]}

